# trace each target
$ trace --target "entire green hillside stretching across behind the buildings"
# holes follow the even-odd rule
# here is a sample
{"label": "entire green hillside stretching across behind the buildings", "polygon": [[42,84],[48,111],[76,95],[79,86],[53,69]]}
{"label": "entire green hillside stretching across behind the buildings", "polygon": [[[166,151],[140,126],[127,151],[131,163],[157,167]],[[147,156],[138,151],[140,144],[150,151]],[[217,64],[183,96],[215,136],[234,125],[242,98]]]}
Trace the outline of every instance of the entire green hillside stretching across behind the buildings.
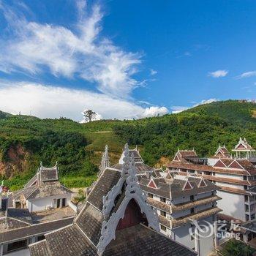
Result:
{"label": "entire green hillside stretching across behind the buildings", "polygon": [[34,175],[39,162],[59,162],[68,187],[83,187],[96,178],[106,143],[115,163],[128,141],[138,144],[149,165],[170,158],[177,148],[213,154],[218,143],[231,149],[239,137],[256,147],[256,104],[235,100],[200,105],[183,113],[135,121],[78,124],[67,118],[39,119],[0,112],[0,173],[18,189]]}

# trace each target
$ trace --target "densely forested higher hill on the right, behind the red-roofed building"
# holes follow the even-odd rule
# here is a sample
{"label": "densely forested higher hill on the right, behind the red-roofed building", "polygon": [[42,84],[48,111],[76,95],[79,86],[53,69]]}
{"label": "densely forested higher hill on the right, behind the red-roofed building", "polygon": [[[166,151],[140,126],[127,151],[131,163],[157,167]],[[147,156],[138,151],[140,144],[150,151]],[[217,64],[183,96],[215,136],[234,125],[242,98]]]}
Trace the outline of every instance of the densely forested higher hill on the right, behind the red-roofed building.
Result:
{"label": "densely forested higher hill on the right, behind the red-roofed building", "polygon": [[232,149],[239,137],[256,148],[256,104],[228,100],[199,105],[176,115],[118,124],[116,134],[132,144],[144,146],[143,157],[154,164],[170,157],[177,148],[195,148],[197,154],[214,154],[218,143]]}

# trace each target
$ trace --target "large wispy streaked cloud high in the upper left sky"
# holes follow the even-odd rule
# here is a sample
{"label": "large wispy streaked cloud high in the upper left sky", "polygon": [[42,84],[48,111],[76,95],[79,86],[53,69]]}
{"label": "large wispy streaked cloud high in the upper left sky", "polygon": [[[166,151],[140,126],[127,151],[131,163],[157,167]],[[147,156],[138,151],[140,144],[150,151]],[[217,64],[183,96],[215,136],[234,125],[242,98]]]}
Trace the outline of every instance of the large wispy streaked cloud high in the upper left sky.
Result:
{"label": "large wispy streaked cloud high in the upper left sky", "polygon": [[55,76],[83,78],[97,83],[97,89],[111,97],[127,98],[140,82],[139,53],[125,52],[100,36],[103,15],[99,5],[89,9],[86,1],[76,1],[76,29],[31,22],[7,4],[0,9],[12,31],[10,39],[0,39],[0,70],[29,72],[45,70]]}

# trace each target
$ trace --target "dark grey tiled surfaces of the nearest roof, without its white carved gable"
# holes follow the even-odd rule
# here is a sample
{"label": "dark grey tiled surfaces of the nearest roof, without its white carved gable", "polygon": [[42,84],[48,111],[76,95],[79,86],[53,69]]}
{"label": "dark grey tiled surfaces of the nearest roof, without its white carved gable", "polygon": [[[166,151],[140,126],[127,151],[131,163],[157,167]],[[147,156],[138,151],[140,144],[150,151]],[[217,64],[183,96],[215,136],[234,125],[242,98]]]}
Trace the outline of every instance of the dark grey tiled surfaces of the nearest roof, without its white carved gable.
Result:
{"label": "dark grey tiled surfaces of the nearest roof, without its white carved gable", "polygon": [[[102,197],[108,194],[120,178],[119,170],[107,168],[103,171],[91,190],[87,203],[80,210],[73,224],[45,235],[45,242],[41,245],[48,247],[49,253],[46,252],[45,256],[98,255],[97,245],[103,223]],[[122,195],[118,196],[116,206],[113,207],[111,214],[117,211],[123,198]],[[143,225],[124,228],[120,232],[117,231],[116,235],[116,240],[108,244],[103,255],[151,255],[151,252],[159,256],[196,255],[195,252]],[[118,238],[124,240],[121,241]],[[40,244],[36,244],[36,246],[38,247]],[[37,255],[33,245],[30,246],[30,252],[31,256],[41,256]]]}

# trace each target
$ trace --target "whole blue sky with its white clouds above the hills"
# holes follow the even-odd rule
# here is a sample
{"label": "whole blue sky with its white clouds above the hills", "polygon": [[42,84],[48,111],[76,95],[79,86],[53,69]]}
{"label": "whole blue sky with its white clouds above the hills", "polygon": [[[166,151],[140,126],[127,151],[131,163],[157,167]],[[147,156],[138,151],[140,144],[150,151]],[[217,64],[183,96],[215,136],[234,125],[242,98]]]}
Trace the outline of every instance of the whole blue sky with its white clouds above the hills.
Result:
{"label": "whole blue sky with its white clouds above the hills", "polygon": [[141,118],[255,99],[255,1],[0,0],[0,109]]}

